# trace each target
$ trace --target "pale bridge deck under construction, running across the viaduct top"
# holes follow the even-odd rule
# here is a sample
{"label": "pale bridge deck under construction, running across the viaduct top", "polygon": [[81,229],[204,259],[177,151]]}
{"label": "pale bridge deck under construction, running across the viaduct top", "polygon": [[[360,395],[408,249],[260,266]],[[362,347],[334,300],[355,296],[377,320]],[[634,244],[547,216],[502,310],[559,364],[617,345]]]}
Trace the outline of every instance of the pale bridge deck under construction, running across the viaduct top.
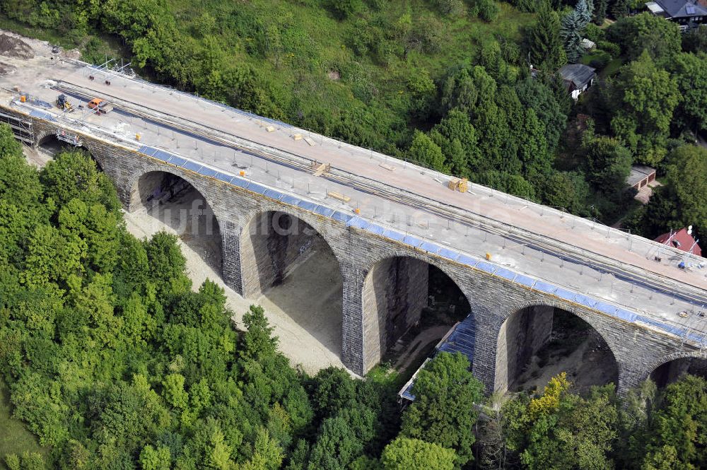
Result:
{"label": "pale bridge deck under construction, running across the viaduct top", "polygon": [[[46,88],[51,78],[78,87],[76,90],[124,102],[129,108],[129,112],[102,117],[88,115],[83,122],[76,120],[81,118],[76,113],[61,117],[56,108],[44,110],[58,115],[66,125],[83,127],[87,132],[105,131],[124,146],[136,148],[144,143],[165,148],[232,174],[245,168],[248,177],[262,184],[332,208],[350,212],[356,207],[361,217],[382,225],[437,240],[476,257],[490,253],[492,262],[500,266],[595,295],[651,318],[687,324],[693,331],[705,329],[700,317],[691,316],[688,322],[677,313],[704,310],[707,269],[679,269],[677,264],[685,255],[665,245],[475,184],[466,194],[452,192],[446,187],[449,177],[438,172],[168,88],[110,72],[91,71],[95,80],[90,81],[85,66],[47,57],[8,61],[16,62],[18,74],[0,76],[4,88],[21,83],[23,90],[53,102],[57,91]],[[110,79],[110,86],[104,83],[105,78]],[[6,104],[16,95],[4,93],[0,98]],[[25,112],[29,109],[25,106]],[[208,133],[192,132],[189,125],[209,128]],[[141,134],[139,143],[135,134]],[[294,134],[302,134],[303,139],[293,139]],[[226,140],[216,141],[214,136]],[[279,155],[281,160],[254,156],[248,151],[251,148]],[[309,160],[330,163],[332,170],[316,177],[298,166]],[[327,197],[329,192],[349,196],[351,201]],[[654,261],[655,255],[662,261]],[[701,260],[687,259],[688,264]],[[652,283],[642,285],[641,277]],[[636,279],[633,285],[629,282],[632,278]],[[692,300],[676,300],[670,291],[687,292]]]}

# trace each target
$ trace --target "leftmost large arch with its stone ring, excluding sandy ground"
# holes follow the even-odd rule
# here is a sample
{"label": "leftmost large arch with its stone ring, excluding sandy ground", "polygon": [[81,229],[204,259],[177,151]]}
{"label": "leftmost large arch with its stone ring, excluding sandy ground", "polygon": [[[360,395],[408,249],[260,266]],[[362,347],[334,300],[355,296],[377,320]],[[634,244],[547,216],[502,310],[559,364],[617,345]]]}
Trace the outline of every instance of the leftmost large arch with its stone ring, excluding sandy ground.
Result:
{"label": "leftmost large arch with its stone ring, excluding sandy ground", "polygon": [[144,210],[156,219],[151,224],[154,232],[175,233],[214,274],[223,276],[223,260],[227,256],[221,237],[224,220],[197,178],[175,168],[151,165],[134,172],[122,192],[130,213]]}

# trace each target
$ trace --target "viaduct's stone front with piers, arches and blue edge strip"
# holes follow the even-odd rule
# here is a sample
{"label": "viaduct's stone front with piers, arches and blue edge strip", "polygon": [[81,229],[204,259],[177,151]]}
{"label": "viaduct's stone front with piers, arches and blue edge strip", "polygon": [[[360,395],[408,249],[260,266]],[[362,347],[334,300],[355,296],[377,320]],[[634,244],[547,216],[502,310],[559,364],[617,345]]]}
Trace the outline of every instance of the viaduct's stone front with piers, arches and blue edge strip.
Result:
{"label": "viaduct's stone front with piers, arches and blue edge strip", "polygon": [[[223,280],[246,298],[257,298],[263,286],[273,283],[308,243],[328,246],[339,262],[343,284],[341,358],[359,375],[379,362],[385,343],[390,341],[386,324],[391,315],[400,313],[396,310],[404,310],[407,324],[418,319],[426,302],[428,264],[447,274],[469,301],[475,325],[472,367],[487,392],[505,391],[523,356],[547,342],[554,308],[584,319],[606,341],[616,359],[619,392],[635,386],[667,361],[707,359],[703,336],[689,329],[661,326],[658,319],[663,312],[658,308],[651,311],[648,298],[631,300],[645,302],[631,309],[592,298],[589,289],[566,295],[565,288],[548,288],[542,278],[501,269],[493,259],[459,256],[458,252],[452,256],[440,242],[410,242],[409,234],[371,228],[365,217],[336,204],[327,208],[308,204],[306,196],[282,196],[282,192],[248,182],[236,172],[225,175],[190,170],[149,155],[141,143],[112,141],[47,116],[11,107],[2,107],[0,112],[31,124],[35,145],[57,129],[79,134],[83,147],[115,183],[128,211],[140,201],[139,186],[146,175],[168,173],[192,184],[218,221]],[[277,239],[282,235],[267,228],[274,215],[285,217],[288,227],[295,224],[299,229],[285,241]],[[250,236],[260,225],[266,227],[259,233],[262,236]],[[472,242],[474,237],[481,235],[472,235]],[[391,278],[395,283],[388,282]],[[655,295],[658,298],[661,294]],[[691,308],[692,312],[704,310],[701,305]]]}

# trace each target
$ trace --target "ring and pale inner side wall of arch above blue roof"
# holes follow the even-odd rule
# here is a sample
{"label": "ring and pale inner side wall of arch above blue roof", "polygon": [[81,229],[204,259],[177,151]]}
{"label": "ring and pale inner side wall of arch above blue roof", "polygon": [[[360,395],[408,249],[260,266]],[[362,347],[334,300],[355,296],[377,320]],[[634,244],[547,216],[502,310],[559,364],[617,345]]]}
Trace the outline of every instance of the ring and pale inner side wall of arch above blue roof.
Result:
{"label": "ring and pale inner side wall of arch above blue roof", "polygon": [[464,312],[457,312],[458,319],[474,312],[474,297],[467,286],[457,280],[450,266],[435,257],[395,250],[366,264],[361,285],[364,370],[380,362],[395,342],[421,320],[423,309],[428,307],[431,272],[433,278],[441,275],[462,296],[454,304],[464,302]]}

